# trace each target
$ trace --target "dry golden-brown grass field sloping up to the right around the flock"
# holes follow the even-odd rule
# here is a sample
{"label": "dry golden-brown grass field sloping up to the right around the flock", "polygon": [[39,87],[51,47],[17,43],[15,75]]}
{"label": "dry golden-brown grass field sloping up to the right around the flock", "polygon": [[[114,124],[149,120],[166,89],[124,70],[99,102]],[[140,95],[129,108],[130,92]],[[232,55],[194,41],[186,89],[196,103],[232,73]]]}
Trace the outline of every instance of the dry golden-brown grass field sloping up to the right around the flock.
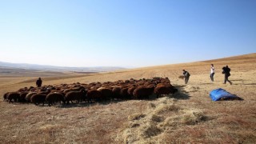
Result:
{"label": "dry golden-brown grass field sloping up to the right around the flock", "polygon": [[[210,64],[215,81],[210,82]],[[230,66],[222,84],[223,66]],[[182,70],[191,74],[187,85]],[[0,75],[0,95],[25,86],[73,82],[113,82],[130,78],[170,78],[178,93],[154,100],[130,100],[35,106],[0,102],[1,143],[255,143],[256,54],[151,66],[101,74]],[[211,90],[223,88],[243,101],[211,101]]]}

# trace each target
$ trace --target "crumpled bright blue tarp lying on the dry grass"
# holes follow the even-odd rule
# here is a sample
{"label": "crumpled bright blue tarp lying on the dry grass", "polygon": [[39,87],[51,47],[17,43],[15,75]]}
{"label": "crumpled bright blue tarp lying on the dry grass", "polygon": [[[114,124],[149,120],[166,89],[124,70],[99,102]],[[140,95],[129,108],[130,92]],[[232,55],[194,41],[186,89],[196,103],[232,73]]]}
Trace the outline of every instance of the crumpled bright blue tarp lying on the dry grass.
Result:
{"label": "crumpled bright blue tarp lying on the dry grass", "polygon": [[226,90],[224,90],[222,88],[212,90],[210,92],[210,98],[213,101],[219,101],[221,99],[241,99],[234,94],[230,94],[229,92],[227,92]]}

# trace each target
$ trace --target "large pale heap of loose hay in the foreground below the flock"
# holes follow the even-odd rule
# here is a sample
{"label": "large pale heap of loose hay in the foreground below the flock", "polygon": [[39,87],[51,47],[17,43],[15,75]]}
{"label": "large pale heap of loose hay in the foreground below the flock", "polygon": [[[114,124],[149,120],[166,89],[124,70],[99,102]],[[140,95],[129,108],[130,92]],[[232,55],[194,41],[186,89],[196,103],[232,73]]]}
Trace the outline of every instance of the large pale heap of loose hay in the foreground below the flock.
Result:
{"label": "large pale heap of loose hay in the foreground below the flock", "polygon": [[[158,143],[166,132],[180,126],[196,125],[204,122],[206,115],[202,110],[177,106],[173,98],[159,98],[148,102],[144,114],[131,114],[130,122],[118,134],[118,141],[125,143]],[[175,128],[176,127],[176,128]]]}

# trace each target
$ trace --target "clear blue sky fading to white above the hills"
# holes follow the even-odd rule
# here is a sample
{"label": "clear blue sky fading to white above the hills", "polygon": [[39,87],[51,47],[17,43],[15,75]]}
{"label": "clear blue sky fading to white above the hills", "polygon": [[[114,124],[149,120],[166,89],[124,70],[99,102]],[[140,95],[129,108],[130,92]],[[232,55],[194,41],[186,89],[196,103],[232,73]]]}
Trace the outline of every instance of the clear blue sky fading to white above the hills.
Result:
{"label": "clear blue sky fading to white above the hills", "polygon": [[255,0],[0,0],[0,62],[140,67],[255,52]]}

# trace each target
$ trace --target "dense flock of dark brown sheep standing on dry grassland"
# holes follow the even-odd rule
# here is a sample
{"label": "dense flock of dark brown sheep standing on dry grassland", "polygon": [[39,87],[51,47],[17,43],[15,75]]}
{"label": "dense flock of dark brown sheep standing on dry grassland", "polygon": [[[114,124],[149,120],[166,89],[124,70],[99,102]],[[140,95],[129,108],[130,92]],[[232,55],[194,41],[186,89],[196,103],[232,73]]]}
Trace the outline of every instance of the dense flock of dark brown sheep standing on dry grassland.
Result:
{"label": "dense flock of dark brown sheep standing on dry grassland", "polygon": [[118,80],[115,82],[92,82],[24,87],[3,95],[6,102],[32,102],[35,105],[48,103],[69,104],[70,102],[97,102],[114,99],[148,99],[151,94],[157,98],[162,94],[174,94],[178,90],[170,84],[169,78]]}

